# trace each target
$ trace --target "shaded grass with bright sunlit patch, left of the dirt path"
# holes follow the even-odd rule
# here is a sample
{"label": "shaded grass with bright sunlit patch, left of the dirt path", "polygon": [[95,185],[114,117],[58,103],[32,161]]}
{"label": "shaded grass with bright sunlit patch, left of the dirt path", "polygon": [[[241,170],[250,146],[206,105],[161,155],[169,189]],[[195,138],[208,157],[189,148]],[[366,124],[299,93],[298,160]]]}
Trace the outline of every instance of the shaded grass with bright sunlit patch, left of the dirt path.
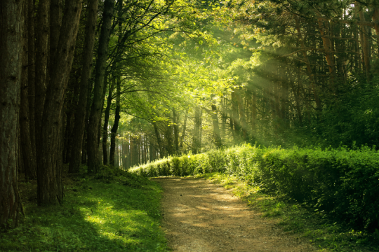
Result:
{"label": "shaded grass with bright sunlit patch, left of the dirt path", "polygon": [[35,183],[21,183],[25,218],[1,234],[0,251],[167,251],[159,185],[114,173],[66,179],[65,202],[51,207],[37,207]]}

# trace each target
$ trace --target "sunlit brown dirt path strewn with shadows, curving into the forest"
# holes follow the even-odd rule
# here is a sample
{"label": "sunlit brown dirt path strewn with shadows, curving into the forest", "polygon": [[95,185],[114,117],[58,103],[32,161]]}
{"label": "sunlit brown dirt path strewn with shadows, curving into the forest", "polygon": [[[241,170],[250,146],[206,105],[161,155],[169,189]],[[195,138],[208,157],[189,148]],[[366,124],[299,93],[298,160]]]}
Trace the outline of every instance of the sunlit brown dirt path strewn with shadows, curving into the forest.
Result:
{"label": "sunlit brown dirt path strewn with shadows, curving into the forest", "polygon": [[205,179],[154,179],[164,188],[162,225],[173,251],[315,251]]}

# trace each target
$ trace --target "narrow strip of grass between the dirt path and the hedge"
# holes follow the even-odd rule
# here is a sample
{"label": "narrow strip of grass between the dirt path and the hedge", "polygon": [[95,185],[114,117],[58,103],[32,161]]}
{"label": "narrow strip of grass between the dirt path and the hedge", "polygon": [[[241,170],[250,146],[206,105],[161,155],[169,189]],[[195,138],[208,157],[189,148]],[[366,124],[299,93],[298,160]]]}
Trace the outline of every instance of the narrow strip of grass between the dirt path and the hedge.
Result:
{"label": "narrow strip of grass between the dirt path and the hedge", "polygon": [[309,240],[319,251],[379,251],[379,233],[352,230],[328,218],[326,214],[306,209],[302,204],[280,195],[263,193],[258,186],[249,185],[234,176],[212,173],[197,177],[232,189],[234,195],[260,212],[262,218],[275,220],[284,232]]}

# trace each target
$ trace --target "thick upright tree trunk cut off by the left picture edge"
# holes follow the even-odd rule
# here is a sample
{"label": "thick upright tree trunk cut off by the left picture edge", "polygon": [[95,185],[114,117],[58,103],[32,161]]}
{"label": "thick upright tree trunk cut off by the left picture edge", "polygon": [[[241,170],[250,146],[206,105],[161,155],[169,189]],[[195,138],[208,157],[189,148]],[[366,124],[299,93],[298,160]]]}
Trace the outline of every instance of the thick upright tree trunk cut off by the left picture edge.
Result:
{"label": "thick upright tree trunk cut off by the left picture edge", "polygon": [[[18,225],[18,117],[22,71],[24,1],[0,3],[0,228]],[[4,120],[5,119],[5,120]]]}

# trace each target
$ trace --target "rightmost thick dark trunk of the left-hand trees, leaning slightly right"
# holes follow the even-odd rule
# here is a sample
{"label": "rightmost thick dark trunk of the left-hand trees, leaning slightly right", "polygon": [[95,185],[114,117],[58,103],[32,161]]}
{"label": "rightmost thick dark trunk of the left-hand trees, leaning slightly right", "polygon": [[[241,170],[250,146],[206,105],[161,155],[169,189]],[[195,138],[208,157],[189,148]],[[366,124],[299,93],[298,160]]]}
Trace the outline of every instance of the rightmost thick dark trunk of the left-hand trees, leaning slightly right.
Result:
{"label": "rightmost thick dark trunk of the left-hand trees, leaning slightly right", "polygon": [[102,14],[102,27],[98,46],[98,59],[95,66],[95,86],[93,89],[93,102],[87,132],[88,172],[99,172],[100,160],[98,157],[98,128],[102,109],[102,90],[104,87],[105,65],[108,55],[108,43],[114,0],[105,0],[104,13]]}

